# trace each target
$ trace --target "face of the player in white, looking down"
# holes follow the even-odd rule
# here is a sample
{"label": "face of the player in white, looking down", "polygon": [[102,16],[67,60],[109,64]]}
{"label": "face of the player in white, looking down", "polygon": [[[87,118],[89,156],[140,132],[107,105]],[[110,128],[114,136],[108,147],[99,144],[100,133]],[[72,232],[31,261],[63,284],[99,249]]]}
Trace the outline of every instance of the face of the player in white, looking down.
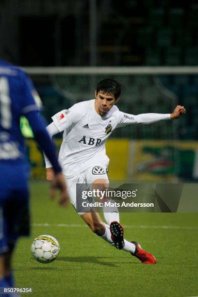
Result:
{"label": "face of the player in white, looking down", "polygon": [[106,113],[108,113],[108,111],[112,108],[112,106],[114,105],[114,103],[118,100],[115,100],[115,96],[114,95],[109,95],[106,93],[100,93],[95,92],[95,98],[96,98],[96,102],[95,102],[95,108],[96,111],[99,115],[104,116],[106,115]]}

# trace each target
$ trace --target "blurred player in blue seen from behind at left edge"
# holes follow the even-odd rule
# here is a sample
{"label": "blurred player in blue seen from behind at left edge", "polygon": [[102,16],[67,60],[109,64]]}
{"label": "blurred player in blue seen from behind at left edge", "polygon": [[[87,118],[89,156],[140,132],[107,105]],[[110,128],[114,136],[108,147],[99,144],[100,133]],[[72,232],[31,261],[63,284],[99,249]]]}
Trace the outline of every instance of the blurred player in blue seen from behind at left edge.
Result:
{"label": "blurred player in blue seen from behind at left edge", "polygon": [[12,253],[17,239],[28,236],[29,169],[20,116],[25,115],[34,138],[48,156],[55,180],[51,187],[61,191],[60,204],[68,199],[65,180],[54,146],[33,98],[33,84],[20,69],[0,61],[0,287],[13,286]]}

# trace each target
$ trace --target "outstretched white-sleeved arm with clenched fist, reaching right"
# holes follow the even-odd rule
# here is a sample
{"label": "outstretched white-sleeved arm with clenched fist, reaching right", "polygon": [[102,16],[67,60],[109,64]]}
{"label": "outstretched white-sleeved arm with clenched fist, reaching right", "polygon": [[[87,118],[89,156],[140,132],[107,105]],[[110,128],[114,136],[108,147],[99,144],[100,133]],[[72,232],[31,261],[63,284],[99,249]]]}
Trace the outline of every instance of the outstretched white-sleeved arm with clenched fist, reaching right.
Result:
{"label": "outstretched white-sleeved arm with clenched fist, reaching right", "polygon": [[169,120],[178,118],[180,115],[185,114],[185,108],[181,105],[177,105],[172,114],[140,114],[131,115],[119,111],[119,121],[117,127],[126,126],[129,124],[151,124],[162,120]]}

